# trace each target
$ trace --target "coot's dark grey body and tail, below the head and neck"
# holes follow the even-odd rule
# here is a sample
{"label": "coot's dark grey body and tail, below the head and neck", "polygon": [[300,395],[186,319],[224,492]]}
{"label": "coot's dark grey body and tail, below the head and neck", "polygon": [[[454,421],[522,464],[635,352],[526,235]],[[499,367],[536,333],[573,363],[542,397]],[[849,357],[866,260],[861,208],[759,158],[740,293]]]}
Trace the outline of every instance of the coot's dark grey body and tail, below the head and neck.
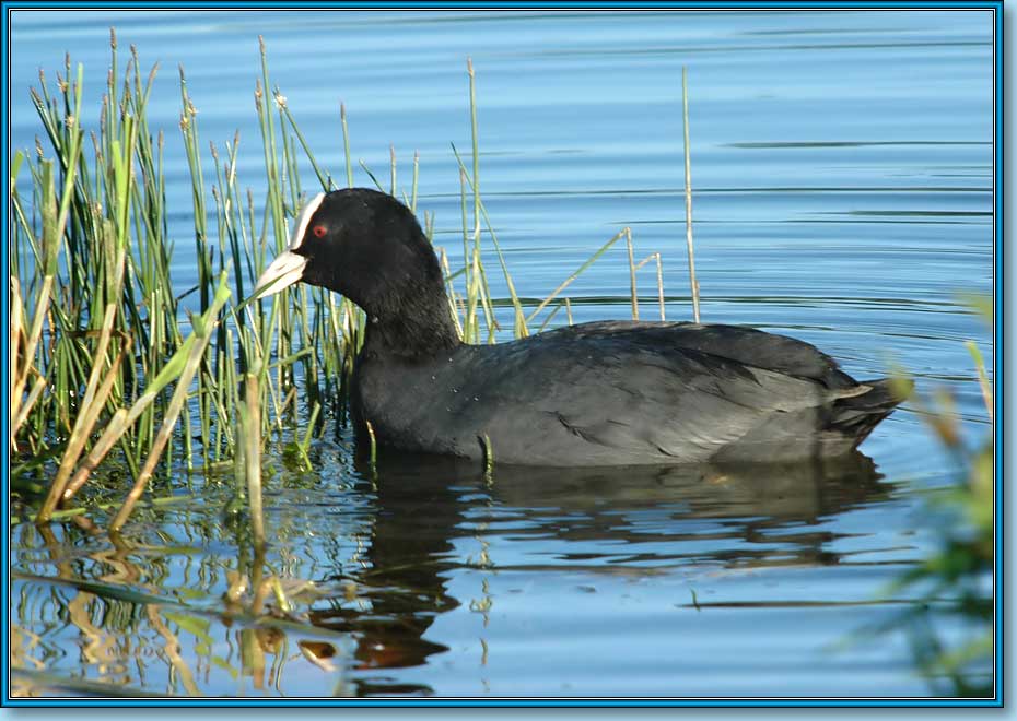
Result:
{"label": "coot's dark grey body and tail, below the head and neck", "polygon": [[[369,331],[370,333],[370,331]],[[896,401],[805,343],[732,326],[594,322],[426,358],[361,355],[354,413],[405,450],[617,465],[845,453]]]}

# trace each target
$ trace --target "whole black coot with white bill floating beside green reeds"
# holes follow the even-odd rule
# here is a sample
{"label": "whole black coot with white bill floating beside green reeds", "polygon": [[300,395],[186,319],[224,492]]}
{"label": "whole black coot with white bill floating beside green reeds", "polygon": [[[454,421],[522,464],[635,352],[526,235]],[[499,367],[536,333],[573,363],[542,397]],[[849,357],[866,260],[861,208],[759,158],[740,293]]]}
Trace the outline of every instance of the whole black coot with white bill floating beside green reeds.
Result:
{"label": "whole black coot with white bill floating beside green reeds", "polygon": [[814,346],[737,326],[603,321],[459,341],[413,214],[366,189],[315,198],[256,297],[304,281],[364,309],[352,410],[378,444],[499,463],[787,461],[854,449],[902,400]]}

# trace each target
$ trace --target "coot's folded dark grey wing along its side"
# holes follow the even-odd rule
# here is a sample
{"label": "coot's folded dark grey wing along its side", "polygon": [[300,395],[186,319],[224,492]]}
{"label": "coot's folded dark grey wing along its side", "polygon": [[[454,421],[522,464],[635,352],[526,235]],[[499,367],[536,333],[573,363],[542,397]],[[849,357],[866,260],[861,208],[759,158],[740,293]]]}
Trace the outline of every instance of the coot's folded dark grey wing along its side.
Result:
{"label": "coot's folded dark grey wing along its side", "polygon": [[845,394],[807,377],[662,346],[665,339],[647,340],[642,330],[598,326],[476,348],[452,414],[466,453],[480,433],[506,462],[699,462],[745,438],[800,442],[817,432],[822,406]]}

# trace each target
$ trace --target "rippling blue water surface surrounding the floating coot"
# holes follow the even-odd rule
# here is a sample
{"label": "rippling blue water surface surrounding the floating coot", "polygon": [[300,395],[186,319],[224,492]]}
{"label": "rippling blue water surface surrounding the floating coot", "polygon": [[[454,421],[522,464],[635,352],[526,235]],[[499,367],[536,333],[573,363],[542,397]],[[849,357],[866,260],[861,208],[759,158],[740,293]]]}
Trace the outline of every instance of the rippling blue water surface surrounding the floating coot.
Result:
{"label": "rippling blue water surface surrounding the floating coot", "polygon": [[[379,178],[391,144],[408,188],[420,152],[420,208],[435,213],[454,265],[449,142],[468,153],[471,56],[481,187],[521,295],[547,295],[629,225],[640,257],[664,256],[668,318],[689,318],[687,66],[704,320],[795,335],[862,378],[900,365],[924,391],[954,390],[969,439],[989,432],[962,341],[991,354],[992,338],[956,295],[992,289],[987,11],[15,11],[15,147],[40,133],[23,88],[40,67],[50,79],[62,72],[65,50],[84,63],[84,105],[97,107],[110,24],[145,69],[161,62],[149,121],[167,137],[182,288],[195,271],[176,66],[202,138],[222,146],[239,130],[242,185],[259,198],[253,92],[264,34],[273,82],[336,177],[340,98],[354,157]],[[305,187],[312,180],[307,170]],[[570,288],[576,321],[628,317],[623,256],[612,250]],[[640,284],[652,316],[650,267]],[[886,596],[888,583],[935,547],[920,492],[951,471],[913,406],[881,424],[863,457],[826,469],[495,469],[484,478],[391,459],[373,478],[344,434],[313,450],[313,473],[266,459],[265,560],[294,599],[289,623],[246,613],[249,594],[222,599],[250,555],[243,524],[221,516],[227,478],[161,482],[156,496],[201,500],[138,513],[122,537],[100,530],[102,512],[15,527],[15,688],[943,693],[915,672],[907,635],[845,642],[909,607],[907,592]]]}

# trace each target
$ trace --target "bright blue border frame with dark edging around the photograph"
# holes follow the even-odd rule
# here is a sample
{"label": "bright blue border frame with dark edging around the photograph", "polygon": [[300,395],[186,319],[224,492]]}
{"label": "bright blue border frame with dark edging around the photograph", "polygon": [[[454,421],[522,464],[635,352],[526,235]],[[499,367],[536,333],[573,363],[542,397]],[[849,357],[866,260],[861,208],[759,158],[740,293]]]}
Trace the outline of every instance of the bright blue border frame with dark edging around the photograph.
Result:
{"label": "bright blue border frame with dark edging around the photograph", "polygon": [[[5,69],[9,68],[10,54],[10,21],[11,10],[30,10],[30,9],[105,9],[116,7],[118,10],[139,10],[139,9],[163,9],[163,8],[187,8],[187,9],[234,9],[252,8],[257,9],[430,9],[430,10],[456,10],[456,9],[550,9],[550,10],[569,10],[569,9],[597,9],[597,8],[617,8],[618,2],[329,2],[325,0],[303,0],[293,3],[271,2],[271,1],[239,1],[239,0],[221,0],[220,2],[173,2],[168,0],[154,0],[148,2],[131,3],[110,3],[73,0],[57,0],[54,2],[31,1],[31,0],[2,0],[0,8],[4,12],[4,28],[0,37],[0,57]],[[1003,564],[1005,557],[1004,546],[1004,418],[1003,418],[1003,400],[1005,399],[1005,387],[1002,369],[1003,351],[1000,343],[1003,341],[1004,333],[1004,287],[1000,284],[1001,269],[1005,269],[1005,246],[1003,243],[1004,228],[1004,34],[1003,34],[1003,0],[969,0],[959,2],[946,1],[925,1],[905,0],[901,2],[809,2],[805,0],[785,0],[784,2],[738,2],[724,0],[708,0],[700,2],[663,2],[650,1],[639,2],[626,8],[640,9],[873,9],[873,10],[992,10],[993,11],[993,95],[994,95],[994,125],[993,125],[993,143],[994,143],[994,167],[993,167],[993,370],[996,383],[994,394],[994,428],[993,439],[995,445],[994,454],[994,481],[995,481],[995,558],[994,558],[994,590],[995,596],[995,697],[989,699],[957,699],[957,698],[885,698],[885,699],[823,699],[823,698],[434,698],[434,699],[404,699],[404,698],[353,698],[353,699],[308,699],[308,698],[285,698],[285,699],[243,699],[243,698],[222,698],[222,699],[192,699],[192,698],[173,698],[173,699],[107,699],[107,698],[73,698],[73,699],[12,699],[10,697],[10,677],[9,671],[0,674],[0,708],[2,707],[32,707],[32,708],[91,708],[91,707],[116,707],[116,708],[139,708],[139,707],[178,707],[178,708],[246,708],[246,707],[272,707],[272,708],[480,708],[480,707],[511,707],[511,708],[675,708],[675,707],[722,707],[722,708],[978,708],[1004,706],[1003,683],[1005,679],[1003,665],[1003,646],[1004,646],[1004,616],[1002,608],[1005,602],[1005,579],[1003,578]],[[0,154],[0,173],[3,177],[3,188],[5,197],[10,198],[11,180],[9,169],[8,149],[10,147],[10,116],[9,116],[9,78],[8,72],[0,74],[0,98],[2,98],[3,115],[3,152]],[[2,267],[5,285],[10,287],[10,263],[9,263],[9,228],[10,228],[10,206],[4,202],[0,209],[2,217],[3,243],[0,244],[0,267]],[[0,323],[10,322],[10,299],[8,293],[2,294],[0,299]],[[2,327],[2,326],[0,326]],[[0,333],[0,348],[2,348],[4,364],[2,367],[2,380],[0,380],[0,398],[3,401],[3,413],[0,413],[0,433],[3,437],[9,437],[10,426],[10,338]],[[8,498],[10,496],[10,448],[0,459],[0,477],[3,486],[0,490],[0,508],[3,510],[3,517],[10,523],[10,509]],[[10,525],[8,525],[10,528]],[[9,559],[8,544],[10,534],[4,533],[0,540],[0,549],[3,558]],[[3,578],[4,600],[10,599],[10,578],[8,576],[7,564],[2,566],[0,575]],[[3,658],[9,657],[10,649],[10,628],[7,623],[0,625],[0,649]]]}

